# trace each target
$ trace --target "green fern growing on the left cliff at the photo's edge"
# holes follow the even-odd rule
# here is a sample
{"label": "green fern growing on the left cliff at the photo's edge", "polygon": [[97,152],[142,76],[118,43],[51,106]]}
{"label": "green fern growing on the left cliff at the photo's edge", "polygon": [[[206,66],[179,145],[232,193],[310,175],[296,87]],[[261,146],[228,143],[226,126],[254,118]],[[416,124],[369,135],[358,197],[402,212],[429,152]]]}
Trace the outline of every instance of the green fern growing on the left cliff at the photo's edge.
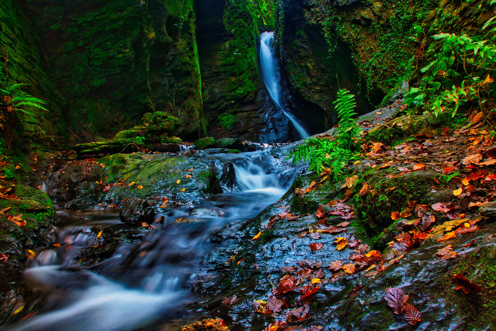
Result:
{"label": "green fern growing on the left cliff at the photo's edge", "polygon": [[19,87],[26,84],[0,84],[0,129],[3,131],[6,145],[10,151],[14,129],[19,121],[18,112],[35,116],[28,112],[25,108],[37,108],[48,111],[42,105],[46,104],[45,101],[35,98],[29,94],[19,90]]}

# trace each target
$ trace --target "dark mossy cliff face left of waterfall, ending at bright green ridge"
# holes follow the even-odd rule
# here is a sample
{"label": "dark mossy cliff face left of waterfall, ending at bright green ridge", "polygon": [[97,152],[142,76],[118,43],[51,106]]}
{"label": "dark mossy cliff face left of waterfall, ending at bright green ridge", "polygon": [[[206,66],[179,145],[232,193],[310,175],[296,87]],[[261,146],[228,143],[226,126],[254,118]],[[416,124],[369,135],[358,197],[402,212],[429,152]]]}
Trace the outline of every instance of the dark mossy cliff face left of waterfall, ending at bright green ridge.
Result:
{"label": "dark mossy cliff face left of waterfall, ending at bright green ridge", "polygon": [[27,4],[77,142],[112,137],[155,109],[179,118],[181,136],[206,132],[192,0]]}

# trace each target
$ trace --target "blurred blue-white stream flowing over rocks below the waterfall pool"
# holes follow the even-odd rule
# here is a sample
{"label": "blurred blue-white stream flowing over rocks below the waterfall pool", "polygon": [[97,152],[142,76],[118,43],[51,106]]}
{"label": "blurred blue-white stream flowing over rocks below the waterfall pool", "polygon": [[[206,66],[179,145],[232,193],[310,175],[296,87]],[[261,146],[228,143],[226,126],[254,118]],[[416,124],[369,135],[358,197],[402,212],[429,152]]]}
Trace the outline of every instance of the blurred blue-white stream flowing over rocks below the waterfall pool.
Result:
{"label": "blurred blue-white stream flowing over rocks below the waterfall pool", "polygon": [[98,245],[103,226],[121,224],[119,216],[60,210],[51,245],[39,248],[25,271],[28,282],[49,288],[48,299],[38,315],[8,330],[125,331],[184,315],[194,300],[191,289],[208,276],[204,257],[222,247],[213,238],[235,233],[291,184],[294,169],[274,167],[283,163],[269,154],[219,154],[233,163],[238,191],[194,208],[169,208],[139,244],[121,243],[111,258],[90,267],[77,264],[76,257]]}

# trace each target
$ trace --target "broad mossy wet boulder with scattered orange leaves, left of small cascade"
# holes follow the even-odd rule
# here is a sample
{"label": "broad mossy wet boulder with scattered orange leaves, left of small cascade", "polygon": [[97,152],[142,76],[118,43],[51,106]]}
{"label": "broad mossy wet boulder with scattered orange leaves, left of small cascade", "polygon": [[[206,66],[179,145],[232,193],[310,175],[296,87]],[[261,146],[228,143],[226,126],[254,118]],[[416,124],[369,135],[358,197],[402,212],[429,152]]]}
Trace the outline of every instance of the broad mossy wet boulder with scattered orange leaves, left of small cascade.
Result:
{"label": "broad mossy wet boulder with scattered orange leaves, left of small cascade", "polygon": [[184,156],[133,153],[72,161],[62,169],[52,192],[69,208],[112,209],[130,198],[146,199],[154,207],[192,207],[233,189],[233,165],[198,151]]}

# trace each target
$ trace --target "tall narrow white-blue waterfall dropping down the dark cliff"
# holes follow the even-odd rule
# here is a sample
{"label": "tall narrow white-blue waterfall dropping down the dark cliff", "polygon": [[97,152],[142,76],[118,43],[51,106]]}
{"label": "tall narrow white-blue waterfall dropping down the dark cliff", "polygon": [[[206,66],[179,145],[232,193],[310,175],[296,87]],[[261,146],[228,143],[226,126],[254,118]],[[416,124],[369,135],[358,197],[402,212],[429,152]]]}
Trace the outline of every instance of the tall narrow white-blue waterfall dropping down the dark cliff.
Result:
{"label": "tall narrow white-blue waterfall dropping down the dark cliff", "polygon": [[306,138],[310,134],[305,130],[302,123],[294,117],[281,103],[281,84],[279,64],[273,55],[272,42],[274,32],[264,32],[260,35],[260,73],[265,87],[272,101],[284,112],[284,115],[293,123],[300,138]]}

